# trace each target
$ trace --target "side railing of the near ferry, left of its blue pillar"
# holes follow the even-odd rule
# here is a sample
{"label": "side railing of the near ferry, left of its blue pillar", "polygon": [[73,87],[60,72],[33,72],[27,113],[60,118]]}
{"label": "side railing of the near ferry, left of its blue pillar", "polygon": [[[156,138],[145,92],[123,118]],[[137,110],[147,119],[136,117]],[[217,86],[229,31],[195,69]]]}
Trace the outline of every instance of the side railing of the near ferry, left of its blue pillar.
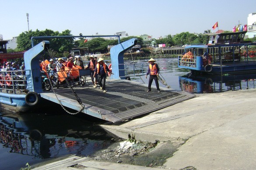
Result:
{"label": "side railing of the near ferry, left of its blue pillar", "polygon": [[[26,71],[29,73],[26,75]],[[27,93],[27,77],[31,70],[0,70],[0,92],[22,94]]]}

